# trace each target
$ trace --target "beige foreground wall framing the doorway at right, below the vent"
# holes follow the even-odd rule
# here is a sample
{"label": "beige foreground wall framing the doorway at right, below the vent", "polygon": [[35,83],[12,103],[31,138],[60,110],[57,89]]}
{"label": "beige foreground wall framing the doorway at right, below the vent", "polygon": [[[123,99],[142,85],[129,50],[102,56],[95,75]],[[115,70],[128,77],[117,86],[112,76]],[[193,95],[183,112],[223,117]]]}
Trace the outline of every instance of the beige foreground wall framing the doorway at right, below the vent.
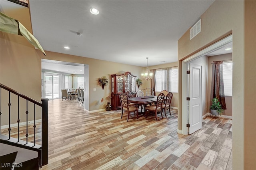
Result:
{"label": "beige foreground wall framing the doorway at right, below the vent", "polygon": [[[255,1],[215,1],[201,16],[201,32],[190,40],[189,30],[178,40],[178,59],[181,60],[209,46],[213,42],[233,35],[233,96],[232,143],[233,169],[256,167],[255,106]],[[179,78],[181,80],[181,78]],[[179,82],[179,89],[181,89]],[[181,98],[181,93],[179,93]],[[181,130],[181,108],[178,106],[178,130]]]}

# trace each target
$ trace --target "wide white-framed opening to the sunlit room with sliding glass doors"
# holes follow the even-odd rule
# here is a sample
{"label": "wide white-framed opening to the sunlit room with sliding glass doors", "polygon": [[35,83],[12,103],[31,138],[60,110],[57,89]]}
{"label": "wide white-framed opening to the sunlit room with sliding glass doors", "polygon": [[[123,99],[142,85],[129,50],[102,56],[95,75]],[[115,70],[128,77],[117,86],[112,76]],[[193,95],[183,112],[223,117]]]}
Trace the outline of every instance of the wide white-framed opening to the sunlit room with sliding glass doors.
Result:
{"label": "wide white-framed opening to the sunlit room with sliding glass doors", "polygon": [[88,64],[41,60],[42,98],[62,98],[61,90],[84,90],[84,109],[89,110],[89,66]]}

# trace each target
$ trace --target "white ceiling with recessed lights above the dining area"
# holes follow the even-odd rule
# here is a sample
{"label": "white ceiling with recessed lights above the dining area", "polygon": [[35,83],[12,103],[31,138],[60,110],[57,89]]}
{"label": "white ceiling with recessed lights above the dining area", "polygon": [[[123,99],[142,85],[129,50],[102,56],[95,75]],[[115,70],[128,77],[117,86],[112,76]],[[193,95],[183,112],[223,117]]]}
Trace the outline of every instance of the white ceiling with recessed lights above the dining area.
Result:
{"label": "white ceiling with recessed lights above the dining area", "polygon": [[[146,57],[148,66],[178,61],[178,39],[212,2],[30,0],[29,5],[33,34],[44,50],[145,67]],[[90,14],[90,8],[100,14]]]}

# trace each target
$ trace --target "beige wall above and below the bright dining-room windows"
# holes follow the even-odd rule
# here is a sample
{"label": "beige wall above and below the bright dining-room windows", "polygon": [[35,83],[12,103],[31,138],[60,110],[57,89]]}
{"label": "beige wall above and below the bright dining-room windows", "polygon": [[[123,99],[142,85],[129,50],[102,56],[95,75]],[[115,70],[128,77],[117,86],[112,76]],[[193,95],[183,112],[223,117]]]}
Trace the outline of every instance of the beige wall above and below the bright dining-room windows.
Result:
{"label": "beige wall above and below the bright dining-room windows", "polygon": [[[168,64],[160,64],[160,65],[156,65],[156,66],[150,66],[148,68],[151,70],[151,69],[177,67],[177,66],[178,66],[178,62],[172,62],[172,63],[168,63]],[[148,81],[147,85],[148,85],[148,87],[150,87],[150,81]],[[158,94],[159,94],[159,92],[156,92],[156,95],[158,95]],[[173,93],[171,106],[178,108],[178,93]]]}

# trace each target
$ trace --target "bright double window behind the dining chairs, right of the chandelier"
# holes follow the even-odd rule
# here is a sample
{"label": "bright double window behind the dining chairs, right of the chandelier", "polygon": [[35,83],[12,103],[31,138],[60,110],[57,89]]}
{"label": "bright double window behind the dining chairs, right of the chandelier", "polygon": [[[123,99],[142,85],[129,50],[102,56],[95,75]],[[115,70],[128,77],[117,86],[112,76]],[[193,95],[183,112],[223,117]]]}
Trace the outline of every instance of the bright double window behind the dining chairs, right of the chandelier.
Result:
{"label": "bright double window behind the dining chairs, right of the chandelier", "polygon": [[[178,68],[172,68],[167,72],[166,70],[158,69],[155,74],[156,78],[156,92],[167,90],[178,93]],[[166,86],[168,84],[168,87]]]}

